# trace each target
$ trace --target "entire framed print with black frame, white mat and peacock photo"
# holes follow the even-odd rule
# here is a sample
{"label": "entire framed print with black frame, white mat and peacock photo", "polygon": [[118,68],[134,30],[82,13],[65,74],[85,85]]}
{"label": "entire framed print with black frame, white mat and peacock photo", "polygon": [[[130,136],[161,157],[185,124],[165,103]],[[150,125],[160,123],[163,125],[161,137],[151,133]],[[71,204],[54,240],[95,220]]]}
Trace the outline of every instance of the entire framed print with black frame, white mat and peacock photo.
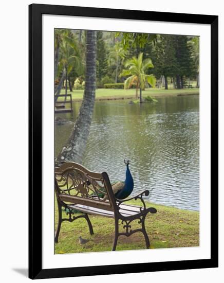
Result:
{"label": "entire framed print with black frame, white mat and peacock photo", "polygon": [[218,267],[218,16],[29,6],[29,277]]}

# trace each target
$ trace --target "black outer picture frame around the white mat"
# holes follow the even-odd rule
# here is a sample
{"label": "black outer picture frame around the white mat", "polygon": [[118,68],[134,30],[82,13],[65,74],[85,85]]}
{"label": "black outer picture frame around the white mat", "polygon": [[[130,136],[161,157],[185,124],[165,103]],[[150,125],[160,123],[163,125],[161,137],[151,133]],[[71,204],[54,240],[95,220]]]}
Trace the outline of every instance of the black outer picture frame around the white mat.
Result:
{"label": "black outer picture frame around the white mat", "polygon": [[[211,25],[211,258],[42,269],[42,14]],[[57,5],[29,5],[29,278],[218,267],[218,16]]]}

